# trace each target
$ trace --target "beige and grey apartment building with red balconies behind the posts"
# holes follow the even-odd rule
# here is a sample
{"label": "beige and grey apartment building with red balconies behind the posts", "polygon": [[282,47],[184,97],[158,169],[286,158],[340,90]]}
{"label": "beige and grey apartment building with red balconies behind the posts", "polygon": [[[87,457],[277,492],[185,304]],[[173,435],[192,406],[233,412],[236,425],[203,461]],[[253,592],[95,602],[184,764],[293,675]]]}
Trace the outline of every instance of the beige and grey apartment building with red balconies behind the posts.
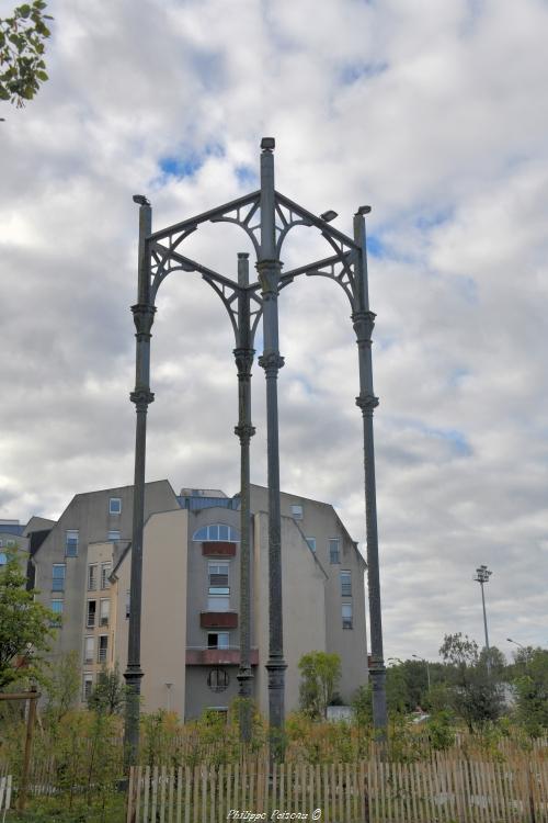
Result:
{"label": "beige and grey apartment building with red balconies behind the posts", "polygon": [[[42,599],[59,615],[53,651],[77,650],[82,700],[102,667],[126,665],[132,487],[77,495],[34,556]],[[251,664],[267,711],[267,489],[252,486]],[[226,710],[238,694],[240,663],[240,511],[238,496],[146,487],[142,551],[144,709],[186,719]],[[282,494],[286,710],[298,706],[298,661],[312,650],[342,661],[349,701],[367,679],[364,572],[356,544],[329,504]]]}

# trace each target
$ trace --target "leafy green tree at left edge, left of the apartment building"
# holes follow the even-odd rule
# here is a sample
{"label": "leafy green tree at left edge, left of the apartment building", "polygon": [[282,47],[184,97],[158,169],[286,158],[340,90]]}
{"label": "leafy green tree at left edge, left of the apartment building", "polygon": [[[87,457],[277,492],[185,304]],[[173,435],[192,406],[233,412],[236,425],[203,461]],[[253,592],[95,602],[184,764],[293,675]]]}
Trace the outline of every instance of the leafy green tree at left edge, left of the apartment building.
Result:
{"label": "leafy green tree at left edge, left of the apartment building", "polygon": [[56,616],[35,601],[34,589],[25,589],[14,552],[9,552],[0,567],[0,689],[23,675],[42,679],[43,661],[39,652],[49,649],[52,623]]}

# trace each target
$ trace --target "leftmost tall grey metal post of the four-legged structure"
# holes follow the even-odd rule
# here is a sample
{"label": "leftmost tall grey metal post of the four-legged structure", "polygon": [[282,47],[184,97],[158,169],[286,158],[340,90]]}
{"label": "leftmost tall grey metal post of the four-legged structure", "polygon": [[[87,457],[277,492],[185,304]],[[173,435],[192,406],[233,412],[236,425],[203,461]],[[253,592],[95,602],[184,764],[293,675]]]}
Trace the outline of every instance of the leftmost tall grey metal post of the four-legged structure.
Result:
{"label": "leftmost tall grey metal post of the four-legged structure", "polygon": [[127,641],[126,722],[124,730],[124,764],[126,769],[137,763],[139,751],[140,680],[140,617],[142,585],[142,531],[145,519],[145,455],[147,443],[147,412],[155,395],[150,392],[150,329],[156,308],[150,303],[150,259],[147,237],[152,228],[152,210],[148,200],[135,195],[139,208],[139,256],[137,304],[132,306],[137,339],[135,391],[129,395],[135,403],[135,481],[132,537],[132,576],[129,583],[129,631]]}

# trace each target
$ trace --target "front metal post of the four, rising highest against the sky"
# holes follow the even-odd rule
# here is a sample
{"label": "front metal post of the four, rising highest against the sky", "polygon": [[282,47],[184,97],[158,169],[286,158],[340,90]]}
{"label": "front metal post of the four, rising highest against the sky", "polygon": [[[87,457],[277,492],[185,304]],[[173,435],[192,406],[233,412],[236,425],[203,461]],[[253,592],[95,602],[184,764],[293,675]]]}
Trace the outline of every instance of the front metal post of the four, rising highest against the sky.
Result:
{"label": "front metal post of the four, rising highest against the sky", "polygon": [[282,519],[279,510],[279,447],[277,374],[279,356],[277,296],[282,264],[276,255],[274,138],[261,142],[261,256],[256,263],[263,298],[263,354],[259,365],[266,377],[266,449],[269,475],[269,721],[271,758],[283,752],[285,669],[282,611]]}

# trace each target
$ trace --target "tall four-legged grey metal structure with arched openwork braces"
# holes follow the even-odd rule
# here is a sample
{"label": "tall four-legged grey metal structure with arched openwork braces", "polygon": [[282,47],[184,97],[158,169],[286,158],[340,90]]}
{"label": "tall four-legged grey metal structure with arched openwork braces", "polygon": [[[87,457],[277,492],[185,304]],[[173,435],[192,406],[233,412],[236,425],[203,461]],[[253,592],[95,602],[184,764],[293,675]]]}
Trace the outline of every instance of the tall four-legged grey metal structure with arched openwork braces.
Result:
{"label": "tall four-legged grey metal structure with arched openwork braces", "polygon": [[[373,438],[373,412],[378,398],[373,391],[372,332],[375,314],[369,309],[367,288],[367,258],[365,215],[369,206],[362,206],[354,215],[353,237],[329,225],[335,215],[326,212],[317,216],[281,194],[274,187],[274,138],[261,142],[261,188],[251,194],[233,200],[195,217],[153,232],[151,206],[142,195],[135,195],[139,204],[139,253],[138,297],[132,307],[136,325],[136,382],[130,395],[135,404],[136,447],[135,488],[130,577],[130,615],[127,669],[125,678],[129,698],[126,710],[125,757],[126,764],[136,762],[138,749],[138,714],[140,678],[140,613],[142,575],[142,531],[145,503],[145,454],[147,410],[153,401],[150,392],[150,331],[155,318],[155,301],[163,280],[176,271],[196,272],[208,283],[222,301],[235,331],[235,359],[238,370],[239,417],[235,431],[240,439],[241,459],[241,604],[240,604],[240,696],[251,696],[252,672],[250,666],[250,439],[254,433],[251,425],[251,365],[254,357],[254,336],[262,317],[263,353],[259,364],[263,368],[266,383],[266,440],[269,485],[269,719],[271,729],[279,731],[284,724],[285,668],[283,620],[282,620],[282,562],[281,562],[281,510],[279,510],[279,450],[277,415],[277,376],[284,365],[278,343],[279,291],[295,278],[305,274],[329,278],[346,294],[351,305],[351,317],[358,349],[359,394],[356,404],[362,410],[365,510],[367,533],[367,565],[369,589],[370,658],[369,674],[373,680],[374,723],[378,730],[387,724],[385,663],[383,655],[383,629],[380,615],[380,584],[377,539],[377,507],[375,488],[375,453]],[[232,223],[239,226],[251,240],[258,271],[258,281],[249,282],[249,255],[238,256],[238,280],[213,271],[181,253],[183,241],[205,223]],[[320,232],[327,240],[331,255],[292,271],[282,273],[281,252],[284,240],[295,226],[308,226]],[[244,722],[243,736],[249,736],[249,717]],[[271,739],[272,740],[272,739]]]}

